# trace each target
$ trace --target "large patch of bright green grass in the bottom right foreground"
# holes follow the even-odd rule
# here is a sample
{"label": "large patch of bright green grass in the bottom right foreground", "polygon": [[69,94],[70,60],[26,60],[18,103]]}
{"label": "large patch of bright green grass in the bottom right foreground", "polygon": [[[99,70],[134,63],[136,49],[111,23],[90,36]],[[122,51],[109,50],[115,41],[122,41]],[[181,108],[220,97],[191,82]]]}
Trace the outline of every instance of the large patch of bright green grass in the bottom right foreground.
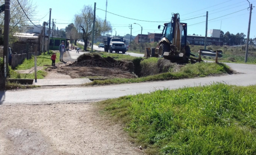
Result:
{"label": "large patch of bright green grass in the bottom right foreground", "polygon": [[149,155],[255,155],[256,86],[215,83],[100,102]]}

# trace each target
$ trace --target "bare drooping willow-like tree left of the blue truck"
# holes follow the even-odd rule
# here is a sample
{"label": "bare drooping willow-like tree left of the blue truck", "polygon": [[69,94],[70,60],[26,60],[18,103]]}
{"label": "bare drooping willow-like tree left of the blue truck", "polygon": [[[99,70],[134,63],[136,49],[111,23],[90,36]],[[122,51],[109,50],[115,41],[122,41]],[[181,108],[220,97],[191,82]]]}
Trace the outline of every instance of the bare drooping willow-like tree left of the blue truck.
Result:
{"label": "bare drooping willow-like tree left of the blue truck", "polygon": [[[81,13],[75,15],[76,28],[81,29],[82,38],[85,42],[84,50],[87,49],[87,42],[92,35],[92,23],[94,21],[93,9],[91,6],[84,5]],[[94,34],[99,35],[104,32],[111,31],[112,27],[108,21],[103,21],[99,17],[95,17],[95,30]],[[93,41],[93,40],[92,40]]]}

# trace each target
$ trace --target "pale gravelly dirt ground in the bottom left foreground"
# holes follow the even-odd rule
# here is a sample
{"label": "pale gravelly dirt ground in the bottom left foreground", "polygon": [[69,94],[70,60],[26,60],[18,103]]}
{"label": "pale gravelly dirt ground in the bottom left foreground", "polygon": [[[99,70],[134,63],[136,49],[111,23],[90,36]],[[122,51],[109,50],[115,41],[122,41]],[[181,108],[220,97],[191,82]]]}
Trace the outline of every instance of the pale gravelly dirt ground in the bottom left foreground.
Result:
{"label": "pale gravelly dirt ground in the bottom left foreground", "polygon": [[[56,96],[57,97],[57,96]],[[92,103],[0,106],[0,155],[141,155]]]}

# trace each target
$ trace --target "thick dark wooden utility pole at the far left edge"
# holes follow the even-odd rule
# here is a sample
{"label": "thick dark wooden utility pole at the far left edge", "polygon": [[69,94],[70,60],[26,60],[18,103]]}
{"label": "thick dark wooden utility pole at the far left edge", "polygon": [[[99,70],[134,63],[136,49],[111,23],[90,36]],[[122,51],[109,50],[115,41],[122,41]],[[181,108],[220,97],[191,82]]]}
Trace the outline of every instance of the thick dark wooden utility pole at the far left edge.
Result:
{"label": "thick dark wooden utility pole at the far left edge", "polygon": [[5,17],[4,17],[4,53],[3,53],[3,60],[4,60],[4,80],[2,83],[3,89],[5,89],[5,80],[7,77],[7,68],[8,68],[8,60],[9,60],[9,19],[10,19],[10,0],[5,0],[4,5],[5,10]]}

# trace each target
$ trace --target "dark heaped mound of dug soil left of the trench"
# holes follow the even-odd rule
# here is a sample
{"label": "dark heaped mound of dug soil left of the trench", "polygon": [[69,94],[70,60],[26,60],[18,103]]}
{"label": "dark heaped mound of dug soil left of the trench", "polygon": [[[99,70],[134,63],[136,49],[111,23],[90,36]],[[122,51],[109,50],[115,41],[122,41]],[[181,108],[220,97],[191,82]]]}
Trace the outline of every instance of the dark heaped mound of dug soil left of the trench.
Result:
{"label": "dark heaped mound of dug soil left of the trench", "polygon": [[102,67],[102,68],[120,68],[121,70],[130,70],[130,62],[126,61],[116,61],[115,59],[108,56],[103,58],[98,54],[93,56],[88,54],[83,54],[78,57],[77,61],[69,64],[68,66],[76,67]]}

